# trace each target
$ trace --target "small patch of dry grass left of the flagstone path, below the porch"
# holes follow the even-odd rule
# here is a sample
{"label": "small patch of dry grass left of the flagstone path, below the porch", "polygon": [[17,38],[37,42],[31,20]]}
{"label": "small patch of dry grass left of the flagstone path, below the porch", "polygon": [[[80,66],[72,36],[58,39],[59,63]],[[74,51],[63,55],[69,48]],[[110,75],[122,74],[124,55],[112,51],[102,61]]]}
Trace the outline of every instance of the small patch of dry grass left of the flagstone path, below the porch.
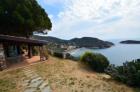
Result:
{"label": "small patch of dry grass left of the flagstone path, below the porch", "polygon": [[0,92],[20,92],[20,82],[23,76],[20,69],[0,72]]}

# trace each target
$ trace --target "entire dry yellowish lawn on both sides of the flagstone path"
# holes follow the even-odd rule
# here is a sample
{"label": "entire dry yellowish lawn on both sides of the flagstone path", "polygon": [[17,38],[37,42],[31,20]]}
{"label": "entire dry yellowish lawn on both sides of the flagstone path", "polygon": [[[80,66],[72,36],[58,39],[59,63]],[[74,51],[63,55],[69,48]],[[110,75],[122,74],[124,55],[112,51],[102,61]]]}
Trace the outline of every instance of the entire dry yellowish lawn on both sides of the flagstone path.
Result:
{"label": "entire dry yellowish lawn on both sides of the flagstone path", "polygon": [[[140,92],[71,60],[50,57],[29,67],[49,81],[52,92]],[[0,92],[22,92],[24,77],[22,69],[0,72]]]}

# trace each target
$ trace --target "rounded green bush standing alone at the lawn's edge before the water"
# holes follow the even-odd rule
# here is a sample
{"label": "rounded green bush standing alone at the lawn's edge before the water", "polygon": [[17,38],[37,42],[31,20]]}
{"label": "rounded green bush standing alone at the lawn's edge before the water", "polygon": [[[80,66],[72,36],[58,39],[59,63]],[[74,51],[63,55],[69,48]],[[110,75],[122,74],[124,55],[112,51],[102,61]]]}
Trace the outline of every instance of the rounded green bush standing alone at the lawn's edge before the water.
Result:
{"label": "rounded green bush standing alone at the lawn's edge before the water", "polygon": [[104,72],[109,65],[109,61],[105,56],[91,52],[86,52],[82,55],[80,61],[97,72]]}

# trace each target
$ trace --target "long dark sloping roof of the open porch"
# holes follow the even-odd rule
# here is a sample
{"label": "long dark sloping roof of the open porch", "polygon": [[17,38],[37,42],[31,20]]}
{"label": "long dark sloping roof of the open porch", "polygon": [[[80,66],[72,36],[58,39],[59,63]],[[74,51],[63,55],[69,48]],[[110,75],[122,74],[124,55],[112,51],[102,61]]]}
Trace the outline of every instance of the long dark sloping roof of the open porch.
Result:
{"label": "long dark sloping roof of the open porch", "polygon": [[45,45],[46,41],[29,39],[25,37],[16,37],[9,35],[0,35],[0,42],[9,42],[9,43],[19,43],[19,44],[31,44],[31,45]]}

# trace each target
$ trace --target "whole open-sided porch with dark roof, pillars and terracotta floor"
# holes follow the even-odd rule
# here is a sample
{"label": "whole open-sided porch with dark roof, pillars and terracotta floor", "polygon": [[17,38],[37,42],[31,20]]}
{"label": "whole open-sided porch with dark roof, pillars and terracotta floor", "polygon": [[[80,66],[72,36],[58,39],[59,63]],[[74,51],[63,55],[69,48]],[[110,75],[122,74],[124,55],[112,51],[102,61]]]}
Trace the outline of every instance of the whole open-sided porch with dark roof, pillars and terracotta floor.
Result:
{"label": "whole open-sided porch with dark roof, pillars and terracotta floor", "polygon": [[[46,60],[43,48],[46,44],[41,40],[0,35],[0,69]],[[39,52],[37,55],[33,55],[33,48]]]}

